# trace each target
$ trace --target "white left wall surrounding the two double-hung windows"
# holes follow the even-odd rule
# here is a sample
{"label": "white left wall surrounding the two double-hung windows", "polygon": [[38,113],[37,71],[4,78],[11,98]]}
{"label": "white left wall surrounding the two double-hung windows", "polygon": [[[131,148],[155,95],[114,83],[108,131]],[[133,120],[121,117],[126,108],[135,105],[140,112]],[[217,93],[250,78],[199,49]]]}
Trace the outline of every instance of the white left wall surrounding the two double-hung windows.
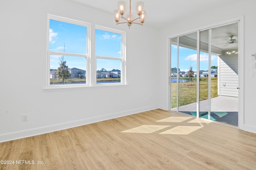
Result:
{"label": "white left wall surrounding the two double-hung windows", "polygon": [[[126,31],[128,85],[44,91],[47,14],[91,23],[92,54],[95,24]],[[158,29],[116,26],[112,14],[68,0],[1,1],[0,23],[0,142],[159,108]]]}

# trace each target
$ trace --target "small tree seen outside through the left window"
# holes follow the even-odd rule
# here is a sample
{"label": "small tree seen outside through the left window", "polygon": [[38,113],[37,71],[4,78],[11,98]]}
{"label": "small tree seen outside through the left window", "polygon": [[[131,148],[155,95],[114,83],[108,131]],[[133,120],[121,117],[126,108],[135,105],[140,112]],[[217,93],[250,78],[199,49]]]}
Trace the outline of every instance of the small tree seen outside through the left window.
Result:
{"label": "small tree seen outside through the left window", "polygon": [[61,80],[61,84],[64,84],[65,80],[71,76],[71,73],[68,71],[68,65],[66,65],[66,61],[64,61],[64,56],[59,57],[60,59],[60,67],[58,67],[56,71],[57,78]]}

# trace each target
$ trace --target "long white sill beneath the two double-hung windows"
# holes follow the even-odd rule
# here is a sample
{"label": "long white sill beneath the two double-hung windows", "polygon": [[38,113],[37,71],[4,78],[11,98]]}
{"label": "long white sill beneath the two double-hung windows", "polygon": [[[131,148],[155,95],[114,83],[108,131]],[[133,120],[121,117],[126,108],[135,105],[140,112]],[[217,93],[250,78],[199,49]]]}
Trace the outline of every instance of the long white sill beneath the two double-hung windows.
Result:
{"label": "long white sill beneath the two double-hung windows", "polygon": [[112,89],[112,88],[124,88],[127,84],[104,84],[94,86],[67,86],[67,87],[45,87],[44,92],[55,92],[55,91],[74,91],[74,90],[92,90],[92,89]]}

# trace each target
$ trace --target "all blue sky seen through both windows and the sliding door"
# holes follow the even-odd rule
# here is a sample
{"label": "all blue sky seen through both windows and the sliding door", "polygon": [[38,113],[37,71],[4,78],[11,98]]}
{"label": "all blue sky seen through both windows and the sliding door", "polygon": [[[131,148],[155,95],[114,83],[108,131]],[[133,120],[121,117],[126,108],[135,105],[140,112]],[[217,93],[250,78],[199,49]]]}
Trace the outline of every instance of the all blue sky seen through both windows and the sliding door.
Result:
{"label": "all blue sky seen through both windows and the sliding door", "polygon": [[[121,35],[103,30],[95,30],[95,55],[108,57],[121,57]],[[50,20],[49,50],[68,53],[86,54],[86,27],[65,22]],[[196,50],[180,47],[179,68],[188,71],[190,65],[196,71]],[[172,45],[172,66],[177,67],[177,46]],[[50,56],[50,69],[59,67],[60,55]],[[64,56],[69,68],[86,70],[86,59],[84,57]],[[212,65],[217,66],[217,56],[212,55]],[[96,69],[102,68],[107,71],[112,69],[121,70],[120,60],[97,59]],[[200,70],[208,70],[208,53],[200,52]]]}

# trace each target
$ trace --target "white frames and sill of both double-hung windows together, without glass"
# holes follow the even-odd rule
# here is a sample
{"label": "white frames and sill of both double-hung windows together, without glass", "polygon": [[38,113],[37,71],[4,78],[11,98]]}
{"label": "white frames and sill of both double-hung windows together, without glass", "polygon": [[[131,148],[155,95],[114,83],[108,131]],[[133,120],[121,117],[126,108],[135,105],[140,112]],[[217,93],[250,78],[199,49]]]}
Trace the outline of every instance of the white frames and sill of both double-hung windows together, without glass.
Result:
{"label": "white frames and sill of both double-hung windows together, without glass", "polygon": [[[60,22],[66,22],[70,24],[76,24],[86,27],[86,54],[77,54],[77,53],[67,53],[67,52],[57,52],[49,51],[49,30],[50,30],[50,20],[57,20]],[[67,90],[82,90],[82,89],[98,89],[98,88],[116,88],[126,85],[126,33],[120,30],[115,30],[107,28],[104,26],[95,25],[95,29],[103,30],[107,32],[113,32],[121,35],[121,57],[107,57],[91,54],[92,48],[95,49],[95,45],[91,46],[91,24],[87,22],[82,22],[79,20],[74,20],[66,17],[56,16],[48,14],[47,16],[47,36],[46,36],[46,52],[47,52],[47,61],[46,61],[46,87],[44,87],[45,92],[52,91],[67,91]],[[95,39],[95,37],[94,37]],[[95,42],[95,41],[94,41]],[[93,50],[95,51],[95,50]],[[50,55],[68,55],[74,57],[86,57],[86,84],[65,84],[65,85],[50,85]],[[96,72],[96,59],[114,59],[121,61],[121,81],[119,83],[98,83],[97,84],[97,72]],[[102,75],[101,75],[102,77]]]}

